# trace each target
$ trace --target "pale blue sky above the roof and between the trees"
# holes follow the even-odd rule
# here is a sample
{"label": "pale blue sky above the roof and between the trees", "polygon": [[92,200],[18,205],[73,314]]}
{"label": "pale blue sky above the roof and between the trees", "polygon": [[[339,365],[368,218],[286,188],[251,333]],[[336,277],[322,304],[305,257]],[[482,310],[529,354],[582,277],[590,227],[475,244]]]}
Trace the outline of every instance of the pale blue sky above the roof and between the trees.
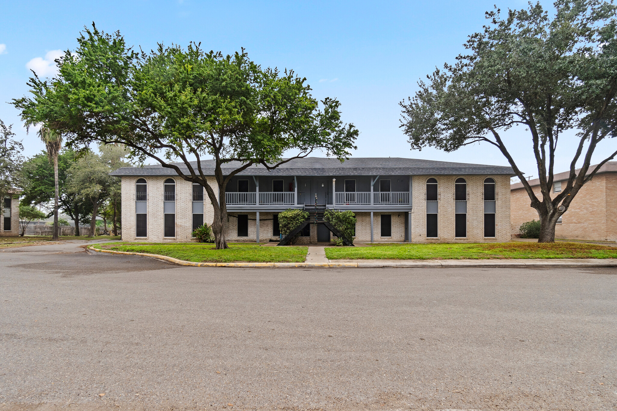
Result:
{"label": "pale blue sky above the roof and between the trees", "polygon": [[[27,67],[52,72],[54,51],[74,49],[79,31],[94,21],[104,31],[120,30],[128,44],[144,49],[157,42],[201,41],[205,49],[225,54],[244,47],[262,66],[296,70],[307,78],[314,96],[341,101],[344,120],[360,130],[354,157],[508,165],[489,145],[453,153],[412,151],[399,129],[399,101],[416,91],[418,79],[453,62],[466,36],[482,29],[484,11],[494,4],[495,0],[4,2],[0,118],[14,124],[25,155],[43,149],[33,132],[26,134],[17,110],[6,102],[27,94]],[[497,6],[520,9],[526,1],[500,1]],[[514,130],[507,140],[521,169],[536,176],[527,134]],[[573,142],[562,140],[556,171],[568,168]]]}

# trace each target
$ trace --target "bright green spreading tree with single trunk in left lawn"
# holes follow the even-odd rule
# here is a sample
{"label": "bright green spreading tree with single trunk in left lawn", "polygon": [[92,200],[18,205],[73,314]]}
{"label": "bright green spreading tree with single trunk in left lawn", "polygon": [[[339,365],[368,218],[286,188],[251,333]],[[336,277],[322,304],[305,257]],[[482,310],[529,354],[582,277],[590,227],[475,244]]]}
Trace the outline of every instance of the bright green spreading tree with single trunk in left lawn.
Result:
{"label": "bright green spreading tree with single trunk in left lawn", "polygon": [[[201,184],[214,208],[217,248],[226,248],[225,189],[252,165],[274,169],[316,150],[343,160],[355,149],[353,124],[339,102],[311,95],[291,70],[262,68],[234,55],[159,45],[135,52],[119,32],[86,28],[75,51],[58,60],[49,82],[32,78],[33,97],[14,100],[22,118],[43,118],[67,144],[121,143],[138,161],[153,158],[186,181]],[[284,153],[291,153],[283,159]],[[196,163],[191,160],[196,159]],[[215,181],[202,159],[214,160]],[[184,167],[174,161],[184,163]],[[223,172],[223,166],[241,166]],[[218,195],[217,195],[218,192]]]}

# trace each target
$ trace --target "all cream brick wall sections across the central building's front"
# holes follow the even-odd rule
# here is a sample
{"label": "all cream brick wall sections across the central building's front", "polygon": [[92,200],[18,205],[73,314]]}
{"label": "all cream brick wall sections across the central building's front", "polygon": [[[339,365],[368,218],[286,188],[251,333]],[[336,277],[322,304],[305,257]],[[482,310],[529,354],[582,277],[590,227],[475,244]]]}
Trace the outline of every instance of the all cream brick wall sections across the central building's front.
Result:
{"label": "all cream brick wall sections across the central building's front", "polygon": [[[510,238],[510,177],[509,176],[433,176],[439,183],[439,238],[426,238],[426,180],[432,176],[413,177],[413,242],[484,242],[506,241]],[[454,238],[454,181],[464,177],[469,193],[467,203],[467,237]],[[484,179],[493,177],[497,190],[496,238],[484,238]],[[135,182],[139,177],[122,178],[122,235],[124,240],[146,240],[152,242],[191,241],[193,226],[192,185],[176,178],[176,237],[164,238],[163,182],[167,177],[148,177],[148,221],[147,238],[135,237]],[[213,184],[212,178],[210,184]],[[213,208],[205,196],[204,221],[212,224]],[[256,213],[231,212],[226,228],[226,238],[230,241],[256,240]],[[238,237],[238,214],[249,215],[248,237]],[[392,216],[392,236],[381,237],[381,214]],[[278,237],[272,235],[273,213],[260,212],[260,240],[262,242]],[[368,242],[371,238],[370,212],[356,213],[356,240]],[[373,233],[375,242],[403,242],[405,240],[406,211],[373,212]],[[311,227],[310,237],[300,237],[298,243],[317,242],[317,230]]]}

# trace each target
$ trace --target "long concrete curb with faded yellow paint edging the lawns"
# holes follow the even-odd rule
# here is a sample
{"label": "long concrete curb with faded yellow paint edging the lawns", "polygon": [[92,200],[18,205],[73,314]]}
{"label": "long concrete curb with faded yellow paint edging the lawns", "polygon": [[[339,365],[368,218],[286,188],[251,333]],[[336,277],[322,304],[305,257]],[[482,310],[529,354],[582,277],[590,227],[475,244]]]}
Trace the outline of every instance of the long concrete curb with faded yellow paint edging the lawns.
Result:
{"label": "long concrete curb with faded yellow paint edging the lawns", "polygon": [[158,258],[173,262],[180,266],[193,267],[273,267],[273,268],[306,268],[306,267],[357,267],[357,268],[379,268],[379,267],[400,267],[400,268],[594,268],[594,267],[617,267],[617,259],[486,259],[486,260],[408,260],[397,262],[395,260],[381,261],[337,261],[329,260],[328,263],[314,262],[192,262],[177,258],[162,256],[159,254],[131,253],[129,251],[103,250],[89,246],[88,250],[99,251],[100,253],[126,254],[130,256],[143,256]]}

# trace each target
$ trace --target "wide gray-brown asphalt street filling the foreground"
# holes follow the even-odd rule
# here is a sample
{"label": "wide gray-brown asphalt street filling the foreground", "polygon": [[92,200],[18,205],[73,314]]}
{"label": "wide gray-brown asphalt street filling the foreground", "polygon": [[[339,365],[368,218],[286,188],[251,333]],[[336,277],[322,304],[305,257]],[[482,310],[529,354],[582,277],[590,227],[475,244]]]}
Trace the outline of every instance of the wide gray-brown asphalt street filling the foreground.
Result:
{"label": "wide gray-brown asphalt street filling the foreground", "polygon": [[617,269],[0,251],[0,410],[617,409]]}

